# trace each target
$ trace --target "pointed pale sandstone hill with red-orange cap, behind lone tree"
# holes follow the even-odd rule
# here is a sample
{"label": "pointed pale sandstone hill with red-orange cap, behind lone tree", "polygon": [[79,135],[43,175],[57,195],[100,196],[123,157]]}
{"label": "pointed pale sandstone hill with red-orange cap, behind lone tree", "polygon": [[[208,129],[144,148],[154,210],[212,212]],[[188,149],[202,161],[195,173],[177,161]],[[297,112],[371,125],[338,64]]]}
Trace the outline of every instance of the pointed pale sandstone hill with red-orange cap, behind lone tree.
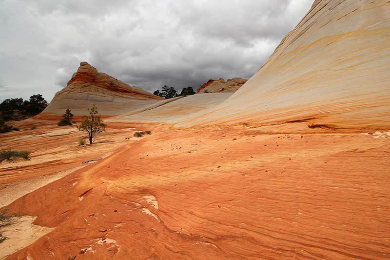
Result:
{"label": "pointed pale sandstone hill with red-orange cap, behind lone tree", "polygon": [[139,87],[129,86],[105,73],[99,73],[87,62],[81,62],[68,85],[59,91],[36,119],[57,118],[71,109],[75,116],[87,114],[96,104],[99,114],[114,116],[137,110],[163,100]]}

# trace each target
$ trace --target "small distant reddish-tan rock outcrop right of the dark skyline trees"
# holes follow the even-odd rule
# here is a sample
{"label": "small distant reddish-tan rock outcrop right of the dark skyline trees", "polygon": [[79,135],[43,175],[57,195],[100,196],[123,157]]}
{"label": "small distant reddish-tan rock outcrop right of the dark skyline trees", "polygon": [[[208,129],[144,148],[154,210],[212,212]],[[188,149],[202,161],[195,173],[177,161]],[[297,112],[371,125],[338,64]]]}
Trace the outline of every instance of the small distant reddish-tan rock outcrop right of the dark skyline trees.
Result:
{"label": "small distant reddish-tan rock outcrop right of the dark skyline trees", "polygon": [[245,84],[247,80],[241,79],[241,78],[233,78],[229,79],[225,82],[224,79],[219,80],[213,80],[210,79],[203,85],[201,85],[198,90],[196,91],[196,94],[199,93],[220,93],[220,92],[228,92],[228,93],[234,93],[236,92],[243,84]]}

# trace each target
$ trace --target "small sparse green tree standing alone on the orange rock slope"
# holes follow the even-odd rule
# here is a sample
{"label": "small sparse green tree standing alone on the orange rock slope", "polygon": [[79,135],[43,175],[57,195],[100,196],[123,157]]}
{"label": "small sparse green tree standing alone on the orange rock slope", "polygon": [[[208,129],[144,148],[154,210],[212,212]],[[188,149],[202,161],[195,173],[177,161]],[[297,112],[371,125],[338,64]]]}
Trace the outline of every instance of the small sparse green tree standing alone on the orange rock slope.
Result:
{"label": "small sparse green tree standing alone on the orange rock slope", "polygon": [[81,118],[84,121],[77,128],[80,131],[87,132],[89,144],[92,144],[92,139],[95,137],[95,135],[103,132],[107,125],[100,119],[95,104],[93,104],[91,109],[88,108],[88,111],[90,116],[82,116]]}

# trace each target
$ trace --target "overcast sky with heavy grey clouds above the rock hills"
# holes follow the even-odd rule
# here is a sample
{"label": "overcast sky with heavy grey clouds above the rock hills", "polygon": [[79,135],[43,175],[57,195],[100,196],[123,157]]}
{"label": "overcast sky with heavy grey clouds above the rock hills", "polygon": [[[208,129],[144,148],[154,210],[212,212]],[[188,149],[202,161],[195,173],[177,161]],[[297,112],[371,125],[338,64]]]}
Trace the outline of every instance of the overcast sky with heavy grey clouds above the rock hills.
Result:
{"label": "overcast sky with heavy grey clouds above the rock hills", "polygon": [[0,0],[0,101],[50,101],[81,61],[154,92],[249,79],[313,0]]}

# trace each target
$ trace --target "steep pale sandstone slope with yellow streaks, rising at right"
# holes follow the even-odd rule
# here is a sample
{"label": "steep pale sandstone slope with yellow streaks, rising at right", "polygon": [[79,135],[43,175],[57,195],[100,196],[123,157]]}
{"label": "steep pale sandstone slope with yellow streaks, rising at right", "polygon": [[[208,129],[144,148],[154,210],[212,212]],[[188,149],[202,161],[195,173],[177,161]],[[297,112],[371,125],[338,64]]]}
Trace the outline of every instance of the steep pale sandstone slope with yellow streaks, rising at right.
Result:
{"label": "steep pale sandstone slope with yellow streaks, rising at right", "polygon": [[212,113],[178,127],[306,122],[387,130],[390,2],[316,0],[273,55]]}

